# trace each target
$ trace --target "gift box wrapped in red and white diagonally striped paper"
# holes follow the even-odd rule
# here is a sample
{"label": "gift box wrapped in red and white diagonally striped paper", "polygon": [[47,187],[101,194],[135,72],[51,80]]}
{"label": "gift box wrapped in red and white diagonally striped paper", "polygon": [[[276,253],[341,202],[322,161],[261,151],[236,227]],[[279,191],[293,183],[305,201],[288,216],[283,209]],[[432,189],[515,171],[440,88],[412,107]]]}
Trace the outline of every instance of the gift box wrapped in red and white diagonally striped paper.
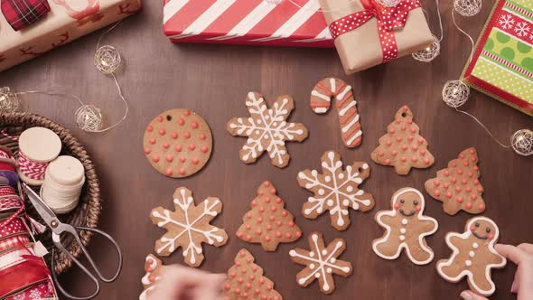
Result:
{"label": "gift box wrapped in red and white diagonally striped paper", "polygon": [[333,47],[318,0],[164,0],[163,23],[172,42]]}

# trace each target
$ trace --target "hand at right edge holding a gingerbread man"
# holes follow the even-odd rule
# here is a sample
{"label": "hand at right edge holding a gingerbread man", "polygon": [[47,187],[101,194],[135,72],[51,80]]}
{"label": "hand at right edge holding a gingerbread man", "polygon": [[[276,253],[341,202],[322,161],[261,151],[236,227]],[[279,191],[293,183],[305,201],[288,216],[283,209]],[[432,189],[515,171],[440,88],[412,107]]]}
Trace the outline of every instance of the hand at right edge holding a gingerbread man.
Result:
{"label": "hand at right edge holding a gingerbread man", "polygon": [[[498,244],[494,247],[500,255],[517,264],[517,272],[510,287],[510,292],[517,294],[517,300],[533,298],[533,245],[520,244],[518,247]],[[461,297],[465,300],[487,300],[472,291],[463,291]]]}

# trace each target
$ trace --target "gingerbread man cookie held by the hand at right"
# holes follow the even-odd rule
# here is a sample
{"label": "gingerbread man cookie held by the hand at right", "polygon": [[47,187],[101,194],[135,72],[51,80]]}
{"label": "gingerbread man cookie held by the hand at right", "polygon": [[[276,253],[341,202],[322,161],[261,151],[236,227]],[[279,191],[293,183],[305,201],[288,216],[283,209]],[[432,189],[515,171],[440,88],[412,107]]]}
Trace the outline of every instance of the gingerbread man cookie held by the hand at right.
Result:
{"label": "gingerbread man cookie held by the hand at right", "polygon": [[468,286],[476,294],[494,294],[496,286],[492,282],[491,269],[505,267],[507,263],[494,249],[499,236],[500,230],[493,220],[486,217],[467,220],[463,233],[446,235],[446,244],[454,252],[450,258],[437,262],[437,272],[453,283],[467,277]]}

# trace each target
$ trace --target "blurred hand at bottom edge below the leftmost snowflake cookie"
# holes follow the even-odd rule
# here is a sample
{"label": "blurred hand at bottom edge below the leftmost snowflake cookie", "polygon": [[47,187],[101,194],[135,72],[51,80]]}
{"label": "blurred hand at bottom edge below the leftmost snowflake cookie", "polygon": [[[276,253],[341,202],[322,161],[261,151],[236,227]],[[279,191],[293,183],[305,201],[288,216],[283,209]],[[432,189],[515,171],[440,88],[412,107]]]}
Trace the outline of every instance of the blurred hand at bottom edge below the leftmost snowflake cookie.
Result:
{"label": "blurred hand at bottom edge below the leftmost snowflake cookie", "polygon": [[179,265],[163,268],[149,300],[219,300],[225,279],[223,274],[211,274]]}

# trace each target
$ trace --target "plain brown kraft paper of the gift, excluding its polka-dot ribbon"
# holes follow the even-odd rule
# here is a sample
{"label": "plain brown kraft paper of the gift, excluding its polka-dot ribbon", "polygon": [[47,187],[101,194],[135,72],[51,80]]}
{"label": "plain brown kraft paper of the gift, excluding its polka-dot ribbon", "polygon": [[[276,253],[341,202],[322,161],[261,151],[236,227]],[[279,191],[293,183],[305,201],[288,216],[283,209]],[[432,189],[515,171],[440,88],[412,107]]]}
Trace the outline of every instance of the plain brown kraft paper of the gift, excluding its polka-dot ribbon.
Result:
{"label": "plain brown kraft paper of the gift, excluding its polka-dot ribbon", "polygon": [[[344,16],[365,10],[361,0],[319,0],[319,2],[328,25]],[[422,50],[433,42],[421,7],[409,12],[406,25],[395,30],[394,35],[397,57]],[[372,17],[350,32],[339,35],[334,43],[346,74],[369,69],[383,62],[376,17]]]}

